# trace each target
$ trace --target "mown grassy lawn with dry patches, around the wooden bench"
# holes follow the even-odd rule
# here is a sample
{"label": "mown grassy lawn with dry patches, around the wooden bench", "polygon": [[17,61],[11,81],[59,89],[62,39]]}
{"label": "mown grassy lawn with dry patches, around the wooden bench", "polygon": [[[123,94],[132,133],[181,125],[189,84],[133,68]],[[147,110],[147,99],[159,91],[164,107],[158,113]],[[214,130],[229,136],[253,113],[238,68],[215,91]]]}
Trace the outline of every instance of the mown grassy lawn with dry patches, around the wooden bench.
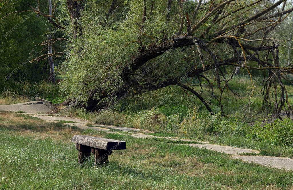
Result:
{"label": "mown grassy lawn with dry patches, around the wooden bench", "polygon": [[[8,119],[9,118],[9,119]],[[0,189],[290,189],[293,172],[156,139],[80,131],[35,117],[0,112]],[[110,164],[77,164],[74,134],[127,142]]]}

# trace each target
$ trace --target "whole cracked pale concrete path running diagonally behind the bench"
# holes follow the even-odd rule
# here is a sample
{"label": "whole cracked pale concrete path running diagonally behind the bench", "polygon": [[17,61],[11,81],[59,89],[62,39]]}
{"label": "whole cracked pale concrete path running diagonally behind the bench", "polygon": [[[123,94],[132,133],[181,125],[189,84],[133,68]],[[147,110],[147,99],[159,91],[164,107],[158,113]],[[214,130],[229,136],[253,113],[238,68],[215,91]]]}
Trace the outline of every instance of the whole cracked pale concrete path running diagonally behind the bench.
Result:
{"label": "whole cracked pale concrete path running diagonally behind the bench", "polygon": [[206,148],[206,149],[217,151],[220,153],[229,154],[231,155],[231,158],[234,158],[234,159],[241,159],[245,162],[253,162],[253,163],[257,163],[267,167],[274,167],[274,168],[284,169],[284,170],[293,170],[293,159],[291,158],[281,158],[281,157],[261,156],[261,155],[251,155],[251,156],[241,155],[241,154],[259,154],[260,152],[258,150],[236,148],[232,146],[220,146],[220,145],[210,144],[209,142],[191,140],[191,139],[180,139],[177,137],[160,137],[160,136],[152,135],[151,131],[146,131],[142,129],[120,127],[120,126],[110,126],[110,125],[99,125],[99,124],[94,124],[93,122],[85,120],[85,119],[74,119],[70,117],[52,116],[50,114],[40,114],[40,112],[48,113],[54,110],[52,103],[46,102],[46,100],[43,101],[42,99],[37,99],[37,101],[25,102],[20,104],[0,105],[0,110],[22,112],[19,114],[31,115],[31,116],[38,117],[40,119],[43,119],[49,122],[63,121],[62,123],[64,124],[74,125],[81,129],[93,129],[97,131],[105,131],[107,133],[119,133],[123,135],[129,135],[135,138],[162,138],[162,139],[167,139],[169,141],[178,141],[179,144],[180,144],[180,141],[181,142],[184,141],[184,142],[187,142],[188,144],[181,144],[181,145],[191,146],[196,148]]}

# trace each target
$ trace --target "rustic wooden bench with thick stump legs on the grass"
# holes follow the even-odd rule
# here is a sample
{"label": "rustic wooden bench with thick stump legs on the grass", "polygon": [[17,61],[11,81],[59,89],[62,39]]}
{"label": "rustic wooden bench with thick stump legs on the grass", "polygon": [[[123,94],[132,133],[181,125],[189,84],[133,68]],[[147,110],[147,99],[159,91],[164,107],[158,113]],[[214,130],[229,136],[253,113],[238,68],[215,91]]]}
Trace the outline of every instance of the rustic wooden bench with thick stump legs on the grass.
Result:
{"label": "rustic wooden bench with thick stump legs on the grass", "polygon": [[83,164],[85,159],[95,156],[95,165],[103,165],[108,163],[108,156],[112,154],[113,150],[125,150],[125,141],[118,141],[108,138],[92,137],[74,135],[72,142],[76,143],[78,153],[78,163]]}

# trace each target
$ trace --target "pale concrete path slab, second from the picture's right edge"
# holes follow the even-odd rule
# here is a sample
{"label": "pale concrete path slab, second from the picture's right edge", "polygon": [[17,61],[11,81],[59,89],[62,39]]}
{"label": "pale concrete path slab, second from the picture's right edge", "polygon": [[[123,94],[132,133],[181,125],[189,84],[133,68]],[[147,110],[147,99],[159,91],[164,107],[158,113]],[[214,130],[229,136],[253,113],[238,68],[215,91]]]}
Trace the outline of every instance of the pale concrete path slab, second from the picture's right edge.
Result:
{"label": "pale concrete path slab, second from the picture's right edge", "polygon": [[235,148],[232,146],[221,146],[213,144],[188,144],[188,146],[197,147],[197,148],[207,148],[209,150],[214,150],[220,153],[239,155],[243,153],[255,153],[259,154],[258,150],[251,150],[246,148]]}

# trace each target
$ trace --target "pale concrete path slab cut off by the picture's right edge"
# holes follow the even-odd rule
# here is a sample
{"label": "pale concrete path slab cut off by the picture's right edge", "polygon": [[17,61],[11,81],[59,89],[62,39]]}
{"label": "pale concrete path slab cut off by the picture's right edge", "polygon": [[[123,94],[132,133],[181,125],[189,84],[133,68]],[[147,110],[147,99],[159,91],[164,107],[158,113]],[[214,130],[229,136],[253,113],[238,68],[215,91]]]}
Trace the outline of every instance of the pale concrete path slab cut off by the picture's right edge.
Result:
{"label": "pale concrete path slab cut off by the picture's right edge", "polygon": [[241,156],[234,155],[234,159],[241,159],[250,163],[257,163],[267,167],[274,167],[283,170],[293,170],[292,158],[281,158],[275,156]]}

